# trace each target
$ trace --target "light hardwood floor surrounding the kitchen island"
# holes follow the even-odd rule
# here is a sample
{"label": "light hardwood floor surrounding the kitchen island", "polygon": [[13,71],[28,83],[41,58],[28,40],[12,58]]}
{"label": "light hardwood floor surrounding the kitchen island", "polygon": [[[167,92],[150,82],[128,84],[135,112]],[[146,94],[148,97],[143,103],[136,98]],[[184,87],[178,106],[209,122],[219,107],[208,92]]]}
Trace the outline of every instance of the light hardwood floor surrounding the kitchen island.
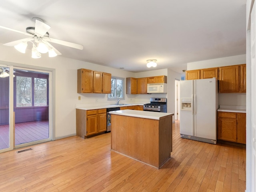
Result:
{"label": "light hardwood floor surrounding the kitchen island", "polygon": [[[1,192],[244,192],[246,149],[180,138],[161,169],[110,150],[110,133],[0,154]],[[23,148],[26,149],[26,148]]]}

